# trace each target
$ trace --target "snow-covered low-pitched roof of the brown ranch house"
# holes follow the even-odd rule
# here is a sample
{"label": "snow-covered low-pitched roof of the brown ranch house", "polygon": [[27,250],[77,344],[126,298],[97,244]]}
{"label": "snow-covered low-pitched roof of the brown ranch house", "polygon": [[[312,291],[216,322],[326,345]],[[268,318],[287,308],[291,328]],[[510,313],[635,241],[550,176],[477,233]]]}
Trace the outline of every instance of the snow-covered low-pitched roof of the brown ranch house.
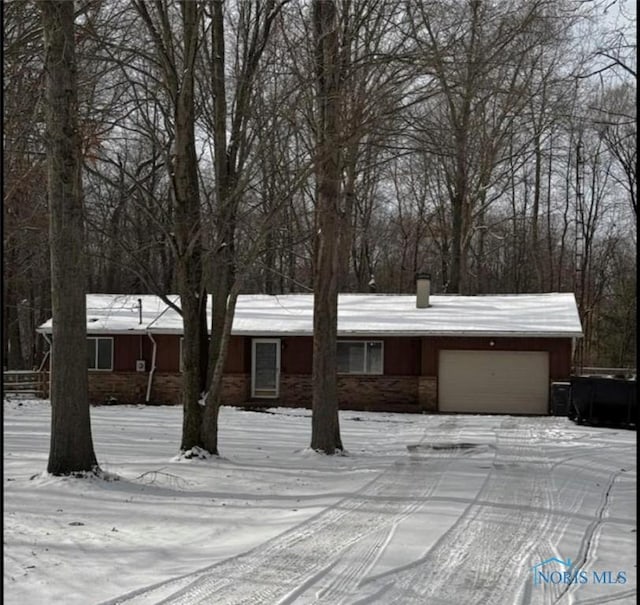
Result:
{"label": "snow-covered low-pitched roof of the brown ranch house", "polygon": [[[142,299],[142,323],[138,299]],[[179,303],[179,297],[170,296]],[[459,296],[435,294],[416,308],[415,295],[341,294],[341,336],[580,337],[572,293]],[[87,295],[89,333],[181,334],[182,317],[160,298]],[[50,332],[51,320],[39,331]],[[308,336],[313,333],[312,294],[247,294],[238,298],[232,333],[247,336]]]}

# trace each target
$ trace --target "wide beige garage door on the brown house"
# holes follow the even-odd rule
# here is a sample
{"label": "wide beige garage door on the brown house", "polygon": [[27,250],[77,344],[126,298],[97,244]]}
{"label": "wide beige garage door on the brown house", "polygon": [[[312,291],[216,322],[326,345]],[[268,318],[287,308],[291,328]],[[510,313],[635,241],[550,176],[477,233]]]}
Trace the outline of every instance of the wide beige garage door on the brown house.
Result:
{"label": "wide beige garage door on the brown house", "polygon": [[540,351],[440,351],[441,412],[547,414],[549,354]]}

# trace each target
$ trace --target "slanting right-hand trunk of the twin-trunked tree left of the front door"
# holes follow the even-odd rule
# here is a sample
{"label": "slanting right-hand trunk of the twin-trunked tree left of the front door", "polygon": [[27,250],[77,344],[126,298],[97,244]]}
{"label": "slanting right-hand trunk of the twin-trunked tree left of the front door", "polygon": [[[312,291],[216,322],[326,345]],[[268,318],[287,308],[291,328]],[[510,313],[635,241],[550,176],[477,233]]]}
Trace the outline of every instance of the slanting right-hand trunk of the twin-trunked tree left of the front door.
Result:
{"label": "slanting right-hand trunk of the twin-trunked tree left of the front door", "polygon": [[[232,89],[233,103],[229,107],[230,78],[225,72],[224,2],[212,0],[209,45],[204,46],[205,65],[210,77],[204,79],[203,87],[210,93],[211,103],[205,102],[204,119],[208,135],[213,140],[215,194],[213,205],[215,237],[210,260],[211,291],[213,292],[211,341],[209,346],[208,391],[201,439],[204,448],[218,453],[218,410],[222,402],[222,375],[235,301],[242,287],[242,276],[237,272],[239,258],[251,262],[255,258],[255,246],[249,251],[238,251],[236,238],[238,212],[242,208],[246,188],[252,172],[252,155],[256,141],[258,121],[253,113],[257,96],[258,70],[271,38],[274,21],[288,0],[241,2],[236,7],[235,36],[235,86]],[[270,213],[267,213],[267,222]],[[264,226],[258,227],[263,233]],[[261,239],[261,238],[258,238]],[[258,246],[260,247],[260,246]]]}

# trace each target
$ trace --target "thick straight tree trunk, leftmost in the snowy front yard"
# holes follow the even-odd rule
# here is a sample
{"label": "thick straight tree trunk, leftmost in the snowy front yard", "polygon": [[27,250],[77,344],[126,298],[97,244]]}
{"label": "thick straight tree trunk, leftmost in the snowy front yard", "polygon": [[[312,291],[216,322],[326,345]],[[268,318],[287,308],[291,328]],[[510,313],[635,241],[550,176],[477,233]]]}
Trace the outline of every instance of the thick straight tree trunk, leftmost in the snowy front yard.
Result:
{"label": "thick straight tree trunk, leftmost in the snowy front yard", "polygon": [[74,3],[45,0],[46,145],[51,236],[51,443],[54,475],[99,470],[88,402],[84,208]]}

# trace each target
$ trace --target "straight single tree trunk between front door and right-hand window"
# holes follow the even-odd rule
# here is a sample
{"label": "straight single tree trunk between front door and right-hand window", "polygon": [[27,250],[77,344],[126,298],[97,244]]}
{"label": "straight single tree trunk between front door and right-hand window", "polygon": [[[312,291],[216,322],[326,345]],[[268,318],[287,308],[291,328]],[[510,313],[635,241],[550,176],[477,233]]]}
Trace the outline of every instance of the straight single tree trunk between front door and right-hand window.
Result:
{"label": "straight single tree trunk between front door and right-hand window", "polygon": [[332,0],[314,0],[313,20],[319,127],[316,146],[311,447],[334,454],[336,450],[342,450],[337,386],[341,74],[335,3]]}

